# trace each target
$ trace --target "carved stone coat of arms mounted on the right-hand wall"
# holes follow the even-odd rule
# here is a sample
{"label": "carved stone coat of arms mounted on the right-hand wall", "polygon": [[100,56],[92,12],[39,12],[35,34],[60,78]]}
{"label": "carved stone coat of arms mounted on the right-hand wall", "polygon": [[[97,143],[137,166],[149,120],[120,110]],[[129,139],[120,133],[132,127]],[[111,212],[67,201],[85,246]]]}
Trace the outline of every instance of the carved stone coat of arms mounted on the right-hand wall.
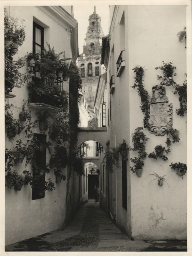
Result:
{"label": "carved stone coat of arms mounted on the right-hand wall", "polygon": [[156,136],[164,136],[166,130],[173,125],[173,105],[168,103],[164,86],[155,85],[152,92],[149,129]]}

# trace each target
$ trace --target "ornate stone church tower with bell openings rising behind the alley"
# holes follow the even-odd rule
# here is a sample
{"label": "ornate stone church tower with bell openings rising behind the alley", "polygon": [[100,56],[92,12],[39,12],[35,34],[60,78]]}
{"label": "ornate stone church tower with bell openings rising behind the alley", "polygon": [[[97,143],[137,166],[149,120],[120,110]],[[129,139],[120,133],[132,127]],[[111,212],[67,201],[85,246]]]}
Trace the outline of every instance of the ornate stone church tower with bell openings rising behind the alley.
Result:
{"label": "ornate stone church tower with bell openings rising behind the alley", "polygon": [[94,12],[89,15],[89,26],[83,45],[83,53],[79,56],[82,88],[85,92],[91,119],[96,117],[94,111],[95,94],[99,76],[103,73],[100,64],[102,36],[101,17],[96,13],[94,6]]}

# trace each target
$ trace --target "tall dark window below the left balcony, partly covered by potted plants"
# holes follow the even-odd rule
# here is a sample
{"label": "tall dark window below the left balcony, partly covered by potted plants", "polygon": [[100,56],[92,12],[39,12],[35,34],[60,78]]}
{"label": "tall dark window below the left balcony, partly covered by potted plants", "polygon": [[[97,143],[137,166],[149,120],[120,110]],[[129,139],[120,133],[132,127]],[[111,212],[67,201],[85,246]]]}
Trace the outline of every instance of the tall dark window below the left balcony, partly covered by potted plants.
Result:
{"label": "tall dark window below the left balcony, partly covered by potted plants", "polygon": [[[34,136],[40,143],[45,144],[46,135],[34,133]],[[33,168],[33,186],[32,186],[32,200],[45,197],[45,171],[46,167],[46,148],[43,151],[36,151],[36,167]]]}

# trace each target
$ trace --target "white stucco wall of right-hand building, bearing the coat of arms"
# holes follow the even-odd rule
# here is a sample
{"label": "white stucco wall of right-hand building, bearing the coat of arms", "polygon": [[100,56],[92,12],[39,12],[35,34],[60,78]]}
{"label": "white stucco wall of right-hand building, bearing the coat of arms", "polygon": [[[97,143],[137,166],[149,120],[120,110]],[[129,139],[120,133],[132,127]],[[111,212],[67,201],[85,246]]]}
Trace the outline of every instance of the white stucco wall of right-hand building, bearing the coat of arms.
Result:
{"label": "white stucco wall of right-hand building, bearing the coat of arms", "polygon": [[[113,70],[112,65],[116,75],[116,61],[121,50],[124,50],[120,47],[122,37],[119,29],[124,11],[125,68],[121,77],[115,77],[115,91],[108,98],[108,101],[111,101],[111,121],[108,127],[110,147],[118,146],[123,139],[132,146],[131,134],[135,128],[143,127],[144,115],[140,109],[140,96],[137,94],[137,89],[131,88],[134,84],[132,68],[136,65],[147,68],[144,85],[150,96],[152,96],[152,86],[159,84],[156,74],[161,75],[155,67],[161,66],[162,61],[173,61],[173,65],[177,67],[177,76],[174,80],[180,85],[183,84],[186,73],[185,42],[180,43],[177,38],[177,33],[186,26],[185,6],[118,6],[117,10],[110,31],[110,52],[114,45],[114,64],[112,58],[109,58],[108,76],[110,68]],[[147,157],[140,178],[129,171],[130,158],[137,153],[132,151],[129,153],[127,211],[122,208],[121,167],[113,172],[117,190],[117,224],[134,239],[186,239],[187,175],[183,179],[178,177],[175,171],[170,169],[169,164],[178,161],[187,162],[187,124],[186,115],[180,117],[175,113],[179,108],[179,100],[177,95],[173,95],[173,89],[166,87],[166,92],[169,102],[173,103],[173,127],[179,130],[181,140],[171,145],[168,161],[155,161]],[[147,129],[144,129],[144,133],[149,137],[146,144],[148,154],[156,145],[165,145],[165,136],[155,136]],[[162,187],[158,186],[157,180],[148,185],[152,180],[152,176],[148,174],[153,172],[161,176],[167,174],[170,188],[166,183]]]}

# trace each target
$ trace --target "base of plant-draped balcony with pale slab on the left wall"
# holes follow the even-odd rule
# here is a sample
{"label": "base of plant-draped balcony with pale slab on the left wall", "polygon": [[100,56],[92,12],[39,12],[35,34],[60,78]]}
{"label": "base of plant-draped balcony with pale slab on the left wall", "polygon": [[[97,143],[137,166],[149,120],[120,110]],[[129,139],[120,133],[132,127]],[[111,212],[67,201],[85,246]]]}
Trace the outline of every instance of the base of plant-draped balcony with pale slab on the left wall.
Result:
{"label": "base of plant-draped balcony with pale slab on the left wall", "polygon": [[51,97],[48,95],[38,95],[35,92],[29,96],[28,106],[31,108],[37,108],[41,110],[61,111],[57,97]]}

